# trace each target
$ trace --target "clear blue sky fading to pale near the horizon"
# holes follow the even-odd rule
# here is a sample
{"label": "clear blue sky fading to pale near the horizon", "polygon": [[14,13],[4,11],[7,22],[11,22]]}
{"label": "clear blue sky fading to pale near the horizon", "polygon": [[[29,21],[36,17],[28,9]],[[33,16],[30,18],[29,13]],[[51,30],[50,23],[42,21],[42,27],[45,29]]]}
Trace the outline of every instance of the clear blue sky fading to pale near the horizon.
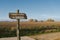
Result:
{"label": "clear blue sky fading to pale near the horizon", "polygon": [[0,20],[12,20],[9,12],[18,9],[27,19],[60,20],[60,0],[0,0]]}

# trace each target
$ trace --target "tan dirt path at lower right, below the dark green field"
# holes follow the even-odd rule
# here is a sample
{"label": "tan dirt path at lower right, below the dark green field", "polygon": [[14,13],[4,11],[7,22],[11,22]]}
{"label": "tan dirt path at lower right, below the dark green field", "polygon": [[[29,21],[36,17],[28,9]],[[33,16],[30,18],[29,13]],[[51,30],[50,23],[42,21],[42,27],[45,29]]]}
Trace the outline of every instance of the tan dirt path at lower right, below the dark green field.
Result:
{"label": "tan dirt path at lower right, below the dark green field", "polygon": [[38,39],[38,40],[55,40],[57,38],[60,38],[60,32],[35,35],[35,36],[31,36],[31,37]]}

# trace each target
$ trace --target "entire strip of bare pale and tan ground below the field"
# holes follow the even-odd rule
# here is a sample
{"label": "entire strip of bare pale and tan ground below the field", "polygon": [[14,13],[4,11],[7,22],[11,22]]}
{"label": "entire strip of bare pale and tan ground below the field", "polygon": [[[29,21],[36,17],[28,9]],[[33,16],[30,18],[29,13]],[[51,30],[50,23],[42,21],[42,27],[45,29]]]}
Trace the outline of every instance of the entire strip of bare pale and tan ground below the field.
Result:
{"label": "entire strip of bare pale and tan ground below the field", "polygon": [[[17,37],[0,38],[0,40],[17,40]],[[60,32],[34,36],[22,36],[21,40],[60,40]]]}

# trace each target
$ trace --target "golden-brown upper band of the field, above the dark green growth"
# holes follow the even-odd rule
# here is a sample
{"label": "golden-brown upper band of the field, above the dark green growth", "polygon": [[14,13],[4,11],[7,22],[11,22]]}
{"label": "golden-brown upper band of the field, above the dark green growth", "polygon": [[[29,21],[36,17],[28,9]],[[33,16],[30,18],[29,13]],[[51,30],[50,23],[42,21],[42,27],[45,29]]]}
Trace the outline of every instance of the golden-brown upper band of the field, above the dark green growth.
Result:
{"label": "golden-brown upper band of the field, above the dark green growth", "polygon": [[[0,22],[1,27],[7,28],[16,28],[17,22]],[[20,26],[22,29],[28,28],[33,29],[35,27],[60,27],[60,22],[20,22]]]}

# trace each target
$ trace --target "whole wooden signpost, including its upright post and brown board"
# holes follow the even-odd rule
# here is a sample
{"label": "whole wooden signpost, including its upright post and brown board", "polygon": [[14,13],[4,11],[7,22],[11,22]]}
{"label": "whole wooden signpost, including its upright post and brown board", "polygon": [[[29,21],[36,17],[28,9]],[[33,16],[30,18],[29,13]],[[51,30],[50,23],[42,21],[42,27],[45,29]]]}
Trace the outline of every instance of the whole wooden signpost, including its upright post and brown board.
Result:
{"label": "whole wooden signpost, including its upright post and brown board", "polygon": [[21,40],[20,36],[20,19],[27,19],[27,16],[25,13],[19,13],[19,10],[17,10],[17,13],[9,13],[9,18],[11,19],[17,19],[17,40]]}

